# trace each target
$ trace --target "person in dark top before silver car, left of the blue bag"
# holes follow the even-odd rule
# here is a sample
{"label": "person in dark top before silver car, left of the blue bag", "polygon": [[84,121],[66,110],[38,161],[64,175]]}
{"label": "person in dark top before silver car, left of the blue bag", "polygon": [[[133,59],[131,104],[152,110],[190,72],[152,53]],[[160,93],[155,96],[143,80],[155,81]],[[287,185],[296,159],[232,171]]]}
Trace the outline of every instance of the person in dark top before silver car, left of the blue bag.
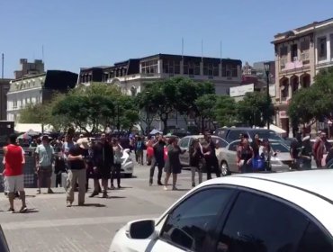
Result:
{"label": "person in dark top before silver car, left of the blue bag", "polygon": [[241,146],[238,148],[237,164],[240,173],[252,172],[252,157],[253,149],[250,147],[247,136],[244,136],[241,141]]}

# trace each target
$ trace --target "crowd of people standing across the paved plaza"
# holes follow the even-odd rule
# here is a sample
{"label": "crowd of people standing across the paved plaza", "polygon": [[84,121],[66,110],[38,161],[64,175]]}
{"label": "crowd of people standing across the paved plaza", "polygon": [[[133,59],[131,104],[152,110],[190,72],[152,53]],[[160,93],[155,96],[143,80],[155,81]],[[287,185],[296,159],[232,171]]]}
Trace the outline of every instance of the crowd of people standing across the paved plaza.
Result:
{"label": "crowd of people standing across the paved plaza", "polygon": [[[259,139],[258,134],[253,136],[252,142],[246,134],[241,134],[239,138],[236,160],[239,172],[270,171],[271,157],[276,153],[272,151],[269,139]],[[121,188],[121,157],[125,148],[135,153],[138,165],[146,163],[150,166],[148,171],[150,186],[154,183],[157,167],[157,185],[163,186],[165,190],[168,190],[170,177],[172,177],[172,190],[177,190],[177,175],[182,172],[180,156],[185,151],[189,151],[192,186],[195,186],[196,174],[199,184],[202,183],[203,172],[207,173],[207,180],[211,179],[211,173],[215,173],[217,177],[221,175],[215,151],[219,147],[211,139],[210,133],[205,133],[203,139],[202,141],[193,139],[187,150],[178,146],[176,137],[163,136],[159,133],[151,138],[133,136],[126,137],[122,141],[105,133],[98,138],[85,138],[82,134],[76,137],[74,133],[69,132],[64,137],[53,140],[50,140],[48,136],[42,136],[31,142],[31,146],[35,147],[37,193],[41,193],[42,187],[47,188],[47,193],[53,193],[51,175],[54,172],[56,186],[63,186],[62,176],[67,173],[67,207],[72,206],[75,191],[78,191],[78,205],[85,203],[89,178],[94,180],[94,189],[90,197],[103,193],[103,198],[107,198],[108,190]],[[14,212],[16,193],[20,194],[22,200],[20,211],[27,211],[23,178],[24,150],[17,144],[14,134],[9,136],[8,145],[3,150],[4,189],[10,203],[8,211]],[[144,155],[145,150],[146,155]],[[291,144],[290,155],[293,160],[291,168],[294,169],[311,169],[312,157],[319,168],[333,166],[333,147],[325,132],[320,133],[313,145],[311,145],[310,136],[302,137],[301,133],[298,134]],[[162,182],[163,171],[165,177]],[[114,180],[116,180],[116,186]]]}

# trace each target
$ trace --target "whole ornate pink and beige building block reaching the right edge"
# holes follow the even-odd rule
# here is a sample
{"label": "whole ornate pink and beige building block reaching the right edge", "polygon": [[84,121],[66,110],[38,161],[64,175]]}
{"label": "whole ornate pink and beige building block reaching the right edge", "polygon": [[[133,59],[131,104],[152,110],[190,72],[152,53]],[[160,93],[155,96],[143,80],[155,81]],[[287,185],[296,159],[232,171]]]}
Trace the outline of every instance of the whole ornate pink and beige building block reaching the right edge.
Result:
{"label": "whole ornate pink and beige building block reaching the right edge", "polygon": [[273,43],[276,121],[292,132],[287,109],[293,94],[313,84],[320,69],[333,66],[333,19],[278,33]]}

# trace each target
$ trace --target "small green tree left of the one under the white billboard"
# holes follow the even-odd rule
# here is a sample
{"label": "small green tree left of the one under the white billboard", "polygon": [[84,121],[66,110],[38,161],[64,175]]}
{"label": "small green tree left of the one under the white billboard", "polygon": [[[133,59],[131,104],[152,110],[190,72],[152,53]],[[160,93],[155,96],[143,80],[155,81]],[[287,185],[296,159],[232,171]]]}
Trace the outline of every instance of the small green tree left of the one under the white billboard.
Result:
{"label": "small green tree left of the one under the white billboard", "polygon": [[235,99],[229,95],[220,95],[216,103],[216,121],[221,126],[232,126],[237,122],[238,112]]}

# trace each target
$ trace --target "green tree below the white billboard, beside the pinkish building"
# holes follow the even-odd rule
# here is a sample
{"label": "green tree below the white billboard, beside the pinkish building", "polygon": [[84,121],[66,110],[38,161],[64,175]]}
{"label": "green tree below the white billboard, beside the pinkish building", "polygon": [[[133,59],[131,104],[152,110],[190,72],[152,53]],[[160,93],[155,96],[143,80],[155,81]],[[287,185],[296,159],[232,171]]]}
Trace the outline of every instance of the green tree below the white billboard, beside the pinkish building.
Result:
{"label": "green tree below the white billboard, beside the pinkish building", "polygon": [[250,126],[264,127],[267,119],[272,121],[274,106],[271,98],[267,102],[264,93],[247,93],[242,101],[238,102],[238,120]]}

